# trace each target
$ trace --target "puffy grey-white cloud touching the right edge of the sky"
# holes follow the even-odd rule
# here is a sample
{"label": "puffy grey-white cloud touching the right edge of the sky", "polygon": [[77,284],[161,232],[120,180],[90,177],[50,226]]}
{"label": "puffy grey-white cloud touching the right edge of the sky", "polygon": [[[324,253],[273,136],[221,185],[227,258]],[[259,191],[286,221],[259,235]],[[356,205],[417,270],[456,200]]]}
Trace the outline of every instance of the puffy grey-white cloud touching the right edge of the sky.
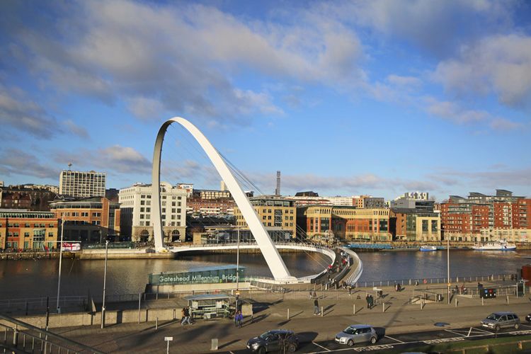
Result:
{"label": "puffy grey-white cloud touching the right edge of the sky", "polygon": [[438,64],[435,81],[466,96],[494,93],[511,107],[531,107],[531,37],[494,35],[464,46],[459,57]]}

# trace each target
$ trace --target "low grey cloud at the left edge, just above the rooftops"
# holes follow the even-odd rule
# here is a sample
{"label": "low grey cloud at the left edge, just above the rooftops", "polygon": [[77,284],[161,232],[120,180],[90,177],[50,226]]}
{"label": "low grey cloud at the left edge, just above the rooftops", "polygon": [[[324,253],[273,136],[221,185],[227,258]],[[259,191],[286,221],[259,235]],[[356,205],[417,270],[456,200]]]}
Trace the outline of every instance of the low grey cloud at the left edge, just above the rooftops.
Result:
{"label": "low grey cloud at the left edge, just above the rooftops", "polygon": [[0,175],[23,175],[57,179],[59,170],[52,169],[32,154],[21,149],[4,149],[0,152]]}

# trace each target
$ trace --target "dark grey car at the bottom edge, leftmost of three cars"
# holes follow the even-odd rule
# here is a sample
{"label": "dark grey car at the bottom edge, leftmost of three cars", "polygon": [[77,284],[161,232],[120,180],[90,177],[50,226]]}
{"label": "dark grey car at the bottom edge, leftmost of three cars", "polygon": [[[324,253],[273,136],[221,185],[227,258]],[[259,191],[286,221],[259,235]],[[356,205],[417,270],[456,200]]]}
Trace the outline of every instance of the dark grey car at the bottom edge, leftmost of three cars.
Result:
{"label": "dark grey car at the bottom edge, leftmost of three cars", "polygon": [[293,353],[299,348],[299,338],[289,329],[273,329],[262,333],[258,337],[249,339],[247,341],[247,348],[258,354],[284,349],[287,352]]}

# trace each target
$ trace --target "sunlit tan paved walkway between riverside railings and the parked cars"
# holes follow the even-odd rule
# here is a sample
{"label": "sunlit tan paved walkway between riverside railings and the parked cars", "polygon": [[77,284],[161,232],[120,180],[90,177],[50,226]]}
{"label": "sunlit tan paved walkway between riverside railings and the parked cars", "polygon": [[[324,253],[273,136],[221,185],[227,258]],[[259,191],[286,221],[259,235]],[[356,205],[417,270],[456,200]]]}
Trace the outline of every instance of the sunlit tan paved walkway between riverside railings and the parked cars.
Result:
{"label": "sunlit tan paved walkway between riverside railings and the parked cars", "polygon": [[[484,285],[489,287],[487,282]],[[531,312],[531,299],[528,295],[509,297],[509,304],[505,296],[485,299],[483,305],[481,299],[457,295],[452,298],[451,304],[447,304],[447,299],[444,298],[442,302],[426,302],[421,309],[421,303],[411,304],[410,298],[413,290],[424,288],[442,292],[445,296],[444,285],[412,285],[404,287],[401,292],[395,292],[394,287],[382,287],[384,297],[377,299],[375,307],[367,309],[365,295],[371,293],[376,299],[372,288],[354,290],[350,296],[345,290],[317,291],[319,306],[324,311],[323,316],[314,316],[314,300],[309,299],[309,292],[255,294],[251,299],[256,304],[254,321],[251,323],[246,318],[241,329],[235,328],[229,319],[214,319],[198,320],[191,326],[181,326],[178,321],[169,321],[159,323],[157,330],[154,328],[155,324],[150,322],[117,324],[103,330],[99,326],[85,326],[53,331],[108,353],[164,353],[166,336],[173,337],[170,343],[171,353],[212,353],[212,338],[218,339],[218,352],[226,353],[244,349],[249,338],[269,329],[292,329],[302,341],[325,341],[332,339],[346,326],[357,323],[372,324],[392,335],[436,329],[436,322],[449,324],[447,328],[477,326],[481,319],[494,311],[513,311],[522,318]],[[288,309],[290,319],[287,319]]]}

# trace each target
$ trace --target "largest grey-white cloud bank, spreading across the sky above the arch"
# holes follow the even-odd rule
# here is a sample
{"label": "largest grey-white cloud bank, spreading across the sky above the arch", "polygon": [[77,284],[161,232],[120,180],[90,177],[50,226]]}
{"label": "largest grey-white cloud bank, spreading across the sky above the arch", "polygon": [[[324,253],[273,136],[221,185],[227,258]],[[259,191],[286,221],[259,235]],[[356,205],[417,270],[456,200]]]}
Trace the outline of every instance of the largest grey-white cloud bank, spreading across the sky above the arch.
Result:
{"label": "largest grey-white cloud bank, spreading across the sky above the arch", "polygon": [[310,11],[290,23],[249,21],[199,4],[55,6],[54,23],[13,31],[18,59],[58,91],[108,104],[125,97],[144,120],[163,110],[238,123],[241,116],[281,115],[265,89],[236,86],[246,69],[340,89],[365,80],[355,33],[333,19],[316,21]]}

